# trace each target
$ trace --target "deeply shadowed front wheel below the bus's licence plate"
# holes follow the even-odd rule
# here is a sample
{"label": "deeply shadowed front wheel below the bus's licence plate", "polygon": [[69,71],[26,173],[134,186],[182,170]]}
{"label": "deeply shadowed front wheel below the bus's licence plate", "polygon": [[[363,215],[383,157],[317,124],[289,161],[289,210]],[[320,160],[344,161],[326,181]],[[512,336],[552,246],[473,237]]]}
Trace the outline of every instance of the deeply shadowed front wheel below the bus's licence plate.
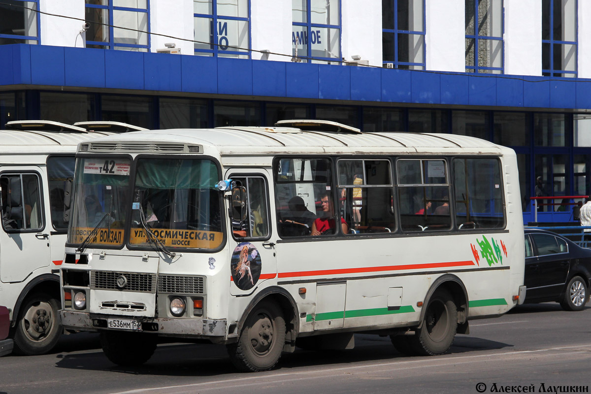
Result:
{"label": "deeply shadowed front wheel below the bus's licence plate", "polygon": [[141,365],[156,350],[156,336],[143,333],[101,331],[100,346],[105,356],[114,364],[129,367]]}

